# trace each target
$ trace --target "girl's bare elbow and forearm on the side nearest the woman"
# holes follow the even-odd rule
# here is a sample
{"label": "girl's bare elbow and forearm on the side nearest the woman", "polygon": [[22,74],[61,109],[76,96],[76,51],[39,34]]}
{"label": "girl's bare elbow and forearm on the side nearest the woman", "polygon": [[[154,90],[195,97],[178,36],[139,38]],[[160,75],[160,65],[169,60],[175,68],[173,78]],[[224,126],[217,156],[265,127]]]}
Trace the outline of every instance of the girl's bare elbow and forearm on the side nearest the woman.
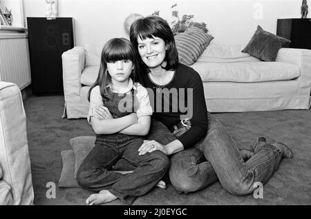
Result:
{"label": "girl's bare elbow and forearm on the side nearest the woman", "polygon": [[138,123],[126,127],[120,133],[133,136],[145,136],[149,133],[150,123],[151,116],[141,116],[138,118]]}

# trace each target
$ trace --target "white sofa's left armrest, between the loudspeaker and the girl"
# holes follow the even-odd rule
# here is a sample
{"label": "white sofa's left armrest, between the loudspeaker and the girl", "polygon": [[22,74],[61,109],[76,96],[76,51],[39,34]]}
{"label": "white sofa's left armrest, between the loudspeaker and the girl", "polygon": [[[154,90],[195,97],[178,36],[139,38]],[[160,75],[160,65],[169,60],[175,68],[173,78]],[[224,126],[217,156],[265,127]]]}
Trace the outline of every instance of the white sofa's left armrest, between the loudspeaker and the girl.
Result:
{"label": "white sofa's left armrest, between the loudspeaker and the girl", "polygon": [[62,54],[63,83],[65,104],[79,104],[81,74],[85,65],[85,52],[81,46],[75,46]]}

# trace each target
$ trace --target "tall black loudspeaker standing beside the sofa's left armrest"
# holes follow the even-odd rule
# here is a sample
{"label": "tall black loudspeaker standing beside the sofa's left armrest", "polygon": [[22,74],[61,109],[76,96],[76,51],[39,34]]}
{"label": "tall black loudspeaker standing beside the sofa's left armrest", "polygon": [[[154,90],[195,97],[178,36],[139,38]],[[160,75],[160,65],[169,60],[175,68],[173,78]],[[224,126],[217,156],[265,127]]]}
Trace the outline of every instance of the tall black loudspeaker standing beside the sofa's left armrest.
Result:
{"label": "tall black loudspeaker standing beside the sofa's left armrest", "polygon": [[62,54],[74,46],[73,18],[27,17],[32,93],[63,94]]}

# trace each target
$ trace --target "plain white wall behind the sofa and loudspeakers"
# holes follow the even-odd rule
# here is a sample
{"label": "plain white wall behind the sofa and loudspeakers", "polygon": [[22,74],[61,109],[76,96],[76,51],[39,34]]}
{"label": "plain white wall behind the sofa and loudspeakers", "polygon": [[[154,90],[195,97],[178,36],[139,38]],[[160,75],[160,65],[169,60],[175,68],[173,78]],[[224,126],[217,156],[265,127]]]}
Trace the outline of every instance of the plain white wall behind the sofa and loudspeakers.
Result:
{"label": "plain white wall behind the sofa and loudspeakers", "polygon": [[[7,0],[8,1],[8,0]],[[10,0],[12,1],[12,0]],[[25,17],[45,17],[45,0],[23,0]],[[144,16],[160,10],[171,21],[171,6],[194,21],[207,23],[214,41],[245,44],[261,25],[276,33],[279,18],[299,18],[300,0],[58,0],[58,17],[75,19],[76,45],[101,44],[113,37],[126,37],[123,21],[131,13]],[[262,9],[262,10],[261,10]],[[310,16],[311,13],[309,13]]]}

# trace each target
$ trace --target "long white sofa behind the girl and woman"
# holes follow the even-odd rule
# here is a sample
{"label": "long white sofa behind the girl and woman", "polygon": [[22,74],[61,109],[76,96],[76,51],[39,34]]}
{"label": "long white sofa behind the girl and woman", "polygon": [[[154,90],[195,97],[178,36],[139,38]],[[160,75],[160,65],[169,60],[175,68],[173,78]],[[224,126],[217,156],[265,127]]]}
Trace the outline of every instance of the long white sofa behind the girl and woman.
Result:
{"label": "long white sofa behind the girl and woman", "polygon": [[[87,93],[97,78],[102,47],[76,46],[62,54],[63,117],[87,116]],[[209,112],[309,109],[311,50],[281,48],[275,62],[264,62],[243,48],[212,41],[191,65],[202,78]]]}

